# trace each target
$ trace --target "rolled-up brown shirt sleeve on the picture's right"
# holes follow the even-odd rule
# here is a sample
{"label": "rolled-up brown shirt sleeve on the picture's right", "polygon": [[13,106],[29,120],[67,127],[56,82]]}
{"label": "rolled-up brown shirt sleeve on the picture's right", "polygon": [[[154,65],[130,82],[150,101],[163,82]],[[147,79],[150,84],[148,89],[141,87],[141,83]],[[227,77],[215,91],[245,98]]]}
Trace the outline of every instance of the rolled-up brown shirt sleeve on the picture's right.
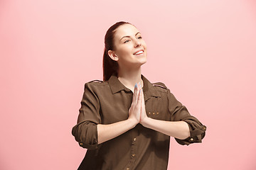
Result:
{"label": "rolled-up brown shirt sleeve on the picture's right", "polygon": [[185,140],[175,138],[176,142],[180,145],[190,145],[195,142],[202,142],[203,137],[206,135],[206,126],[203,125],[197,118],[188,113],[186,106],[177,101],[174,94],[171,94],[168,89],[168,102],[169,113],[171,113],[171,121],[184,121],[188,123],[190,136]]}

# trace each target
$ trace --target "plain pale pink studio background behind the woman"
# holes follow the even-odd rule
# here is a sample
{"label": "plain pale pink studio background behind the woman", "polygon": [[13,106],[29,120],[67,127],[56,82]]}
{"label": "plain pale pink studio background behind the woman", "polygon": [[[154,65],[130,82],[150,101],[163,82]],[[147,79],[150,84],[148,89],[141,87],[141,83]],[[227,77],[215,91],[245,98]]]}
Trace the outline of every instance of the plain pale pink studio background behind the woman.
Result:
{"label": "plain pale pink studio background behind the woman", "polygon": [[117,21],[142,32],[142,74],[207,126],[201,144],[171,139],[169,169],[256,169],[252,0],[1,0],[0,169],[78,168],[86,149],[71,129]]}

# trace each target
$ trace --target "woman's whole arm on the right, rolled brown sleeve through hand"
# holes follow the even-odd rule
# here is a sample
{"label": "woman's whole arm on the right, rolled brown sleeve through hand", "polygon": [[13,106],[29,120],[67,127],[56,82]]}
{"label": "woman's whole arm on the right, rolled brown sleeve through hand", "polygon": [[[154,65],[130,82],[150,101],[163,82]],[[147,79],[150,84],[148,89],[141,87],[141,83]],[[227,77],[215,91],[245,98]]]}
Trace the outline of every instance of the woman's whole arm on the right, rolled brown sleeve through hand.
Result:
{"label": "woman's whole arm on the right, rolled brown sleeve through hand", "polygon": [[[144,98],[142,94],[142,98]],[[169,108],[171,111],[171,120],[156,120],[153,118],[148,118],[146,115],[144,100],[140,102],[142,107],[142,112],[140,115],[139,123],[141,123],[146,128],[151,128],[158,132],[162,132],[166,135],[175,137],[175,140],[181,145],[190,145],[193,142],[201,142],[203,137],[206,135],[206,126],[202,125],[198,119],[193,117],[188,113],[185,106],[176,101],[176,98],[172,94],[169,95],[169,101],[174,103],[169,103],[169,105],[175,105],[174,108]]]}

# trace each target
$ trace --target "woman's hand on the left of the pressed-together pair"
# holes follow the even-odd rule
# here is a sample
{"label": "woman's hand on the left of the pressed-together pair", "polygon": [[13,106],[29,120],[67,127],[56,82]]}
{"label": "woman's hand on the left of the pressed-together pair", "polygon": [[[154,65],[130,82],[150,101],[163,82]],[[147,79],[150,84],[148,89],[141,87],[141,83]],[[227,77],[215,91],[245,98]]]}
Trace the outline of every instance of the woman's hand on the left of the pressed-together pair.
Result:
{"label": "woman's hand on the left of the pressed-together pair", "polygon": [[139,123],[141,109],[142,109],[142,92],[140,92],[141,87],[138,84],[134,86],[134,94],[132,98],[132,105],[129,108],[128,120],[132,120],[134,126]]}

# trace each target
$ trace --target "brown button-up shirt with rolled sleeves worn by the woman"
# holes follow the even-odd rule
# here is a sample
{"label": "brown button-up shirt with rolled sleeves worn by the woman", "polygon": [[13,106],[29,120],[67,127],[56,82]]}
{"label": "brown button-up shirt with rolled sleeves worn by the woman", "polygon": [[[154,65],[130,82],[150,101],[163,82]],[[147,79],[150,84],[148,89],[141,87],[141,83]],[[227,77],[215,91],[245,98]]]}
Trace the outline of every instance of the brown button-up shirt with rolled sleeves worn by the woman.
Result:
{"label": "brown button-up shirt with rolled sleeves worn by the woman", "polygon": [[[143,75],[142,80],[146,115],[158,120],[185,121],[190,137],[175,140],[181,145],[201,142],[206,126],[190,115],[163,83],[151,84]],[[133,92],[114,74],[108,81],[85,84],[78,123],[72,130],[80,147],[87,148],[78,169],[167,169],[170,137],[141,124],[112,140],[97,142],[97,124],[127,120],[132,96]]]}

